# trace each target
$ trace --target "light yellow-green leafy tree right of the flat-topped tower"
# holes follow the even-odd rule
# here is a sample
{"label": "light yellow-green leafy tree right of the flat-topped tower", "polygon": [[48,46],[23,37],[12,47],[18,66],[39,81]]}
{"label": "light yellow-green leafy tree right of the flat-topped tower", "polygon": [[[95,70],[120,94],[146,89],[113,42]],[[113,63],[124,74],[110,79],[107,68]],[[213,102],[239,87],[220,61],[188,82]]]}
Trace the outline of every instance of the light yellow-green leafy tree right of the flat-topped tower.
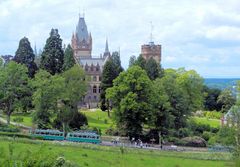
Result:
{"label": "light yellow-green leafy tree right of the flat-topped tower", "polygon": [[170,113],[174,116],[174,128],[186,126],[191,112],[202,109],[203,79],[193,70],[168,69],[161,78],[171,104]]}

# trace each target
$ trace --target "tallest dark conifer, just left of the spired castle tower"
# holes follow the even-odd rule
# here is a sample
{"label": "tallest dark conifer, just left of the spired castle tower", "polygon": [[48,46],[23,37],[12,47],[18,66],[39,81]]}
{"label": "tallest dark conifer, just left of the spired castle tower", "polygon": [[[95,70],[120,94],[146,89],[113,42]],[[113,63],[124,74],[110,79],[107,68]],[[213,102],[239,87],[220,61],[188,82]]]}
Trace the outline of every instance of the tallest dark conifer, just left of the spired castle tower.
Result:
{"label": "tallest dark conifer, just left of the spired castle tower", "polygon": [[40,68],[45,69],[52,75],[61,73],[63,70],[63,59],[62,39],[58,30],[52,29],[43,49]]}

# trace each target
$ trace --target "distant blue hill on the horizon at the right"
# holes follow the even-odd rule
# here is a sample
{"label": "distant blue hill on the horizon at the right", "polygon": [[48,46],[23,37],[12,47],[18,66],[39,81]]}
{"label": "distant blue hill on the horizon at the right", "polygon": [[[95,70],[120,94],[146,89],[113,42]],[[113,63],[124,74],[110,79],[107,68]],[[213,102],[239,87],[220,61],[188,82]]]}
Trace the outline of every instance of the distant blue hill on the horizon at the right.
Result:
{"label": "distant blue hill on the horizon at the right", "polygon": [[235,89],[237,81],[240,81],[240,78],[205,78],[204,82],[210,88],[218,89]]}

